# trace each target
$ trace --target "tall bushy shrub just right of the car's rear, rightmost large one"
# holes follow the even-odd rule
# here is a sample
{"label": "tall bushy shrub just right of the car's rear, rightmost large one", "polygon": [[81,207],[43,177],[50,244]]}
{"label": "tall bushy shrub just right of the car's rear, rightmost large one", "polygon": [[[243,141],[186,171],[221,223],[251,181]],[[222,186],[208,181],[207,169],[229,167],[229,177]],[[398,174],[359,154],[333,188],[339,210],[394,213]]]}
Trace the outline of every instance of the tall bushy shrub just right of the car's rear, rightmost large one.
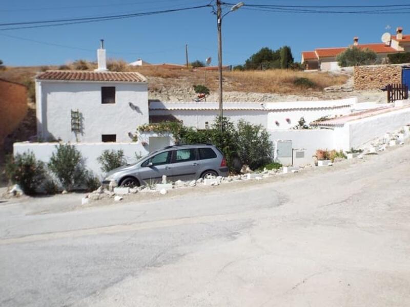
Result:
{"label": "tall bushy shrub just right of the car's rear, rightmost large one", "polygon": [[273,145],[268,131],[262,125],[253,125],[240,120],[237,130],[238,153],[243,164],[256,169],[272,161]]}

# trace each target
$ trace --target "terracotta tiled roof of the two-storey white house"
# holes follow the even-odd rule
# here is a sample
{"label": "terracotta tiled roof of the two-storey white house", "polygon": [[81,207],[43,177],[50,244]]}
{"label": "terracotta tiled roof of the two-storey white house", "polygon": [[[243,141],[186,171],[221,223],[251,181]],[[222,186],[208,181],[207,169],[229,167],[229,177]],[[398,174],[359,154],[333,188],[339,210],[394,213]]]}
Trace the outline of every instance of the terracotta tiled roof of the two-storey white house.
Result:
{"label": "terracotta tiled roof of the two-storey white house", "polygon": [[91,72],[91,71],[46,71],[36,76],[38,80],[59,81],[111,81],[146,82],[147,78],[137,72]]}

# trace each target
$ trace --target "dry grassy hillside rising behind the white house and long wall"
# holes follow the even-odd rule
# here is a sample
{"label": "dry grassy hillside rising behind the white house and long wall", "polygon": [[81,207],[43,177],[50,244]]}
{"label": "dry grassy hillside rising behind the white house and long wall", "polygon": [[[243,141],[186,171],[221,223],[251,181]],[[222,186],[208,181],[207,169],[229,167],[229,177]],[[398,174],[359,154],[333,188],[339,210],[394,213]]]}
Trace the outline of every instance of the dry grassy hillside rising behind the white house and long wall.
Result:
{"label": "dry grassy hillside rising behind the white house and long wall", "polygon": [[[216,100],[218,73],[195,69],[167,69],[155,65],[129,67],[125,61],[109,60],[111,71],[138,71],[149,79],[149,98],[159,100],[191,101],[196,94],[193,85],[209,87],[210,100]],[[71,64],[43,67],[9,67],[0,72],[0,78],[33,86],[34,76],[48,69],[93,70],[95,63],[78,60]],[[224,72],[224,99],[226,101],[277,101],[318,99],[328,97],[323,92],[328,86],[342,85],[347,76],[327,73],[305,73],[292,70]],[[33,87],[29,95],[33,96]],[[328,97],[329,98],[329,97]]]}

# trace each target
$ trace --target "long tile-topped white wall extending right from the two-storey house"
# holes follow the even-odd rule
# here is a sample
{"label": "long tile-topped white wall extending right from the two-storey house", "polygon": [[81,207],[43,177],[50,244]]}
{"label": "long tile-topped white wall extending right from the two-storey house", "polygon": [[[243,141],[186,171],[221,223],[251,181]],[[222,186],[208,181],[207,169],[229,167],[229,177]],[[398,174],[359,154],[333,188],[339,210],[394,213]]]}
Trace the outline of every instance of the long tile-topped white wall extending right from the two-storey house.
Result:
{"label": "long tile-topped white wall extending right from the two-storey house", "polygon": [[[226,102],[223,115],[233,122],[240,119],[272,130],[288,130],[298,124],[301,117],[306,123],[323,116],[346,115],[351,113],[357,98],[321,101],[288,101],[268,103]],[[204,129],[218,115],[216,102],[150,102],[150,115],[172,115],[187,126]],[[286,119],[289,118],[288,123]],[[276,121],[279,125],[276,125]]]}

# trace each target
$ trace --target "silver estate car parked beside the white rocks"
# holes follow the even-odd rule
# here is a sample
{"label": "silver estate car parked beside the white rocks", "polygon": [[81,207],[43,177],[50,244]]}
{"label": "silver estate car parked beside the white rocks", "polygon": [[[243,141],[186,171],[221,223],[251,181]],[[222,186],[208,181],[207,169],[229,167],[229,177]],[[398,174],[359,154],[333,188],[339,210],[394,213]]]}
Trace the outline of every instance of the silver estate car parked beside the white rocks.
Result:
{"label": "silver estate car parked beside the white rocks", "polygon": [[162,180],[196,180],[210,176],[228,176],[227,161],[211,144],[174,145],[149,153],[133,165],[107,173],[103,185],[115,181],[118,186],[135,187]]}

